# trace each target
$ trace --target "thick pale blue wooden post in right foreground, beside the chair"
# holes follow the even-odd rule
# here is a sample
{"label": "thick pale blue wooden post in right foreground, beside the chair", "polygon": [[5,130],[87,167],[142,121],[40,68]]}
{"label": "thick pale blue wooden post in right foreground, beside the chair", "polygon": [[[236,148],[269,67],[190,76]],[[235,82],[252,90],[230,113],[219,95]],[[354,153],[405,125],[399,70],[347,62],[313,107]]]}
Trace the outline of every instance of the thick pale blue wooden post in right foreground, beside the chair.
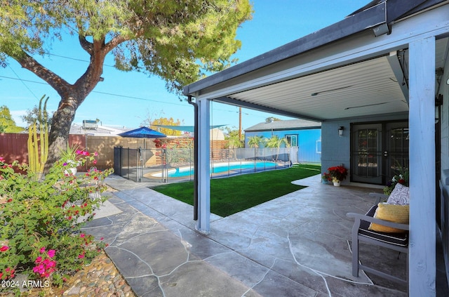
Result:
{"label": "thick pale blue wooden post in right foreground, beside the chair", "polygon": [[436,296],[435,37],[409,44],[410,296]]}

